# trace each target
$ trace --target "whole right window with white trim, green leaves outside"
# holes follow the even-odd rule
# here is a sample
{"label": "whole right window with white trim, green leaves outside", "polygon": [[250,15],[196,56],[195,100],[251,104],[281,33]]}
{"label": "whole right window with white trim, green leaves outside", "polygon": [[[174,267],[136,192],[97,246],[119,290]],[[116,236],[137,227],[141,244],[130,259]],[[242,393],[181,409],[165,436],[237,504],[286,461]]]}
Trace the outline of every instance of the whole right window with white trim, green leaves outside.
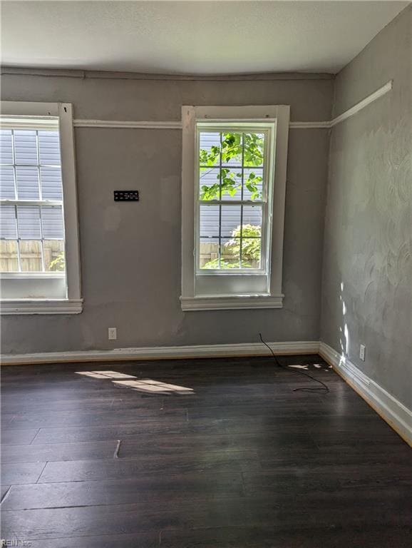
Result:
{"label": "whole right window with white trim, green leaves outside", "polygon": [[289,107],[182,118],[182,309],[280,308]]}

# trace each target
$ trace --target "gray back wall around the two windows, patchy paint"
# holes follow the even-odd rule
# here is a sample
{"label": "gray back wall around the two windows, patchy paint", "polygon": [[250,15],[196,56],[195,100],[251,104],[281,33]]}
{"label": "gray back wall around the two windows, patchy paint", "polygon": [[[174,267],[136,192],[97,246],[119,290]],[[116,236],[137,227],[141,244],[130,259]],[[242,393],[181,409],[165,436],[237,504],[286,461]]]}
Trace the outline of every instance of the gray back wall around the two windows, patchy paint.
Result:
{"label": "gray back wall around the two windows, patchy paint", "polygon": [[[2,98],[66,101],[76,118],[179,120],[182,104],[289,104],[292,120],[329,120],[331,78],[179,81],[4,74]],[[84,310],[3,316],[2,352],[318,340],[328,132],[289,133],[282,310],[180,310],[181,133],[76,129]],[[113,189],[138,188],[138,204]],[[133,250],[130,253],[130,249]],[[153,253],[155,250],[155,253]],[[107,328],[118,328],[108,341]]]}

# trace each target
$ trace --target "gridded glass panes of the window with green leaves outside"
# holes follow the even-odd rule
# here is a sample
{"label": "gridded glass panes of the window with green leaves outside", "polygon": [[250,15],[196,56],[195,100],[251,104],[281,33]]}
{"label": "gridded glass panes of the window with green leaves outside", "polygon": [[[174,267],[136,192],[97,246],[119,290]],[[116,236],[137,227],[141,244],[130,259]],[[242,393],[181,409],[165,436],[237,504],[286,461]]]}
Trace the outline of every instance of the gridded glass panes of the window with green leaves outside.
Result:
{"label": "gridded glass panes of the window with green leaves outside", "polygon": [[267,273],[268,125],[202,121],[196,135],[196,273]]}

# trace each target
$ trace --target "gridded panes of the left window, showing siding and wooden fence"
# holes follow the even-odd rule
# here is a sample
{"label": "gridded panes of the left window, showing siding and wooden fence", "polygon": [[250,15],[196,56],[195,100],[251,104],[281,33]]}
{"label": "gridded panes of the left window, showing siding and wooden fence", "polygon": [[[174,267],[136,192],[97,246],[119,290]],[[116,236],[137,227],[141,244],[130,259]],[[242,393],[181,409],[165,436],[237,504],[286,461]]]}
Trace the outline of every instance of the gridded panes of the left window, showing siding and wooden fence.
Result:
{"label": "gridded panes of the left window, showing siding and wooden fence", "polygon": [[58,118],[9,119],[0,130],[0,272],[64,277]]}

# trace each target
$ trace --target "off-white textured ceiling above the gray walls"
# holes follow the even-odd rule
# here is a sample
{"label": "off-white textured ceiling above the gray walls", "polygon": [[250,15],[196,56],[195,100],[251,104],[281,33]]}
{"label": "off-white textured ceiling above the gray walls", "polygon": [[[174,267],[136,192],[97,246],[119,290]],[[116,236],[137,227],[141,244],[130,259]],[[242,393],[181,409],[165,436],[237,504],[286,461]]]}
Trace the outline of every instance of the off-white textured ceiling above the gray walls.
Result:
{"label": "off-white textured ceiling above the gray walls", "polygon": [[1,61],[150,73],[336,73],[407,4],[4,1]]}

